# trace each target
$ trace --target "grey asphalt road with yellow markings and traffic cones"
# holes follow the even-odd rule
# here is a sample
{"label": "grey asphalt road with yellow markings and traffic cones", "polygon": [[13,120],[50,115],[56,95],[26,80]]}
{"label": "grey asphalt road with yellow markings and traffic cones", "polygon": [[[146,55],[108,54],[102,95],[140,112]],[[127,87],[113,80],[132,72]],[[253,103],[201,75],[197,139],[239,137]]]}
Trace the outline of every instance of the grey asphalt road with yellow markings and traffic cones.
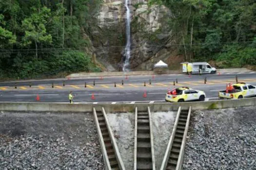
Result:
{"label": "grey asphalt road with yellow markings and traffic cones", "polygon": [[[188,86],[206,93],[207,100],[216,99],[219,90],[224,90],[226,83],[235,83],[236,75],[238,81],[256,85],[256,72],[226,72],[218,74],[192,75],[143,75],[63,79],[63,80],[40,80],[0,83],[0,102],[69,102],[68,94],[73,91],[74,102],[164,102],[167,90],[179,86]],[[204,79],[207,79],[204,84]],[[178,84],[176,83],[176,79]],[[121,81],[123,80],[123,85]],[[149,81],[151,80],[151,85]],[[95,85],[93,85],[95,81]],[[175,86],[173,85],[175,81]],[[84,83],[86,82],[86,88]],[[116,87],[114,86],[116,82]],[[144,82],[146,86],[144,86]],[[52,88],[52,83],[54,88]],[[143,97],[146,92],[147,96]],[[95,99],[92,100],[92,94]],[[39,95],[40,101],[36,101]]]}

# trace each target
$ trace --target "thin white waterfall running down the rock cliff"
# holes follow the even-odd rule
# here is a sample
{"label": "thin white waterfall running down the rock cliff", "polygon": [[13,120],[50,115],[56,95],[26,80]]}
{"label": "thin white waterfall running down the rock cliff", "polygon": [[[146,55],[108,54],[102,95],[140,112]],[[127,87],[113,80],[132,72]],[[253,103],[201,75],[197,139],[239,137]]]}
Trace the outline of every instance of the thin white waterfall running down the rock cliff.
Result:
{"label": "thin white waterfall running down the rock cliff", "polygon": [[129,71],[129,59],[131,57],[130,50],[131,50],[131,21],[130,21],[130,8],[129,8],[129,0],[125,0],[125,7],[126,7],[126,46],[125,46],[125,61],[123,65],[123,71]]}

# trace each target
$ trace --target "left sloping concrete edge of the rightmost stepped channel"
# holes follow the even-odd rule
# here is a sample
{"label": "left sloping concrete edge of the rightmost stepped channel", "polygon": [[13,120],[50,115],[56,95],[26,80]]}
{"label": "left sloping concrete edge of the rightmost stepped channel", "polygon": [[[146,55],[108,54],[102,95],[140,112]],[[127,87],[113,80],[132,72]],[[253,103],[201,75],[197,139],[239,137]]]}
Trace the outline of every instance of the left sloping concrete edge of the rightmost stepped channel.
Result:
{"label": "left sloping concrete edge of the rightmost stepped channel", "polygon": [[170,156],[172,145],[173,145],[173,140],[174,140],[177,125],[178,125],[178,119],[179,119],[180,111],[181,111],[181,107],[179,106],[178,111],[177,111],[177,115],[176,115],[176,119],[175,119],[175,123],[174,123],[174,126],[173,126],[173,131],[172,131],[172,134],[170,136],[169,142],[167,144],[167,148],[166,148],[166,151],[165,151],[165,154],[164,154],[164,157],[163,157],[163,162],[162,162],[160,170],[165,170],[166,169],[167,161],[169,160],[169,156]]}

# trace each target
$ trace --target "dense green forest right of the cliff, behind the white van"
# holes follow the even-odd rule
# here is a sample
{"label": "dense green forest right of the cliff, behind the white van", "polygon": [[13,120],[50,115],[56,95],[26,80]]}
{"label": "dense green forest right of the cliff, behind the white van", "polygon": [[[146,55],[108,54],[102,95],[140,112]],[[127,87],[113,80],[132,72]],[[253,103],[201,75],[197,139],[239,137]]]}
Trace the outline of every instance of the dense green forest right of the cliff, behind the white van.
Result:
{"label": "dense green forest right of the cliff, behind the white van", "polygon": [[170,8],[171,29],[187,61],[219,68],[256,65],[255,0],[150,0]]}

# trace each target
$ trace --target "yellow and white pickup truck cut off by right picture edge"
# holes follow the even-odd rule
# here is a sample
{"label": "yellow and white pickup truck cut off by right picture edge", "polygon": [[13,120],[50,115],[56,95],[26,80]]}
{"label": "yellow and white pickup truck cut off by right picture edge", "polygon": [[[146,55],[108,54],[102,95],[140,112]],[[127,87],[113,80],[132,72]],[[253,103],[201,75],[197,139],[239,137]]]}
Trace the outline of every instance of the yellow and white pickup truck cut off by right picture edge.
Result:
{"label": "yellow and white pickup truck cut off by right picture edge", "polygon": [[256,96],[256,87],[245,83],[233,85],[234,90],[223,90],[218,92],[220,99],[242,99]]}

